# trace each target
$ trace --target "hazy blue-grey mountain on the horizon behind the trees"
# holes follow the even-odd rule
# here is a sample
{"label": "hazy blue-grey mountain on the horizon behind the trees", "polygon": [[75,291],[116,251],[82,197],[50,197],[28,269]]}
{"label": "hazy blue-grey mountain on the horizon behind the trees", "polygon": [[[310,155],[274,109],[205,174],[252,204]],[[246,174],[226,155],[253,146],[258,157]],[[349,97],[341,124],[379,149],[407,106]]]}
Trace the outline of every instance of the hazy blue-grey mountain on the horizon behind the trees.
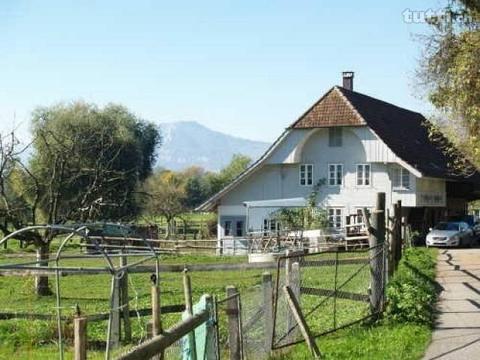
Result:
{"label": "hazy blue-grey mountain on the horizon behind the trees", "polygon": [[157,166],[181,170],[197,165],[218,171],[227,165],[234,154],[256,160],[268,143],[253,141],[211,130],[194,121],[160,124],[162,145]]}

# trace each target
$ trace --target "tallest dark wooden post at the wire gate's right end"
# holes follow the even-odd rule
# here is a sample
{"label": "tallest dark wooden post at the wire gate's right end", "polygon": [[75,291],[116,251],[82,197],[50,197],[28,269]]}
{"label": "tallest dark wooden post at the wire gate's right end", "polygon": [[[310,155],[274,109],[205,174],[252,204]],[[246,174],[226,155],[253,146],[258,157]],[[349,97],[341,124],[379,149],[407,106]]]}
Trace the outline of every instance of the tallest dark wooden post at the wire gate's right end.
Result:
{"label": "tallest dark wooden post at the wire gate's right end", "polygon": [[383,309],[384,268],[383,248],[385,242],[385,193],[377,193],[377,203],[372,212],[369,230],[371,294],[370,305],[373,314]]}

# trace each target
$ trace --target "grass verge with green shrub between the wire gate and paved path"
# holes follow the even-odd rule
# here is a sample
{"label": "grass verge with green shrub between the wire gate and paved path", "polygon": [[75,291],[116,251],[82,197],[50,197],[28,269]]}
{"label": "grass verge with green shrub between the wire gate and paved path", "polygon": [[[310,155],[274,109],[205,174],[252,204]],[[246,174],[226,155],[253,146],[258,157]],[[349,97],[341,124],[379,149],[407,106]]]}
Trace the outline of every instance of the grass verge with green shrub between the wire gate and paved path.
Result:
{"label": "grass verge with green shrub between the wire gate and paved path", "polygon": [[[318,338],[322,359],[421,359],[432,334],[436,256],[437,249],[409,249],[389,287],[393,301],[385,317]],[[275,359],[311,359],[311,355],[300,344]]]}

